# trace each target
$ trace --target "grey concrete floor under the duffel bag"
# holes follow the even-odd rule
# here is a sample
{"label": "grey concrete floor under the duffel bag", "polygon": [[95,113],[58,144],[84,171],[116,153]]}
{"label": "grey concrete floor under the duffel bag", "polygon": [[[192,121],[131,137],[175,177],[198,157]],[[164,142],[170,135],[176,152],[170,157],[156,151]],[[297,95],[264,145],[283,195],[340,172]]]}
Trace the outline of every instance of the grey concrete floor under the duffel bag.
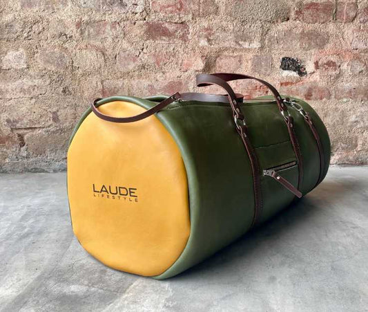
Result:
{"label": "grey concrete floor under the duffel bag", "polygon": [[66,175],[0,175],[1,311],[368,311],[368,167],[167,279],[107,268],[70,227]]}

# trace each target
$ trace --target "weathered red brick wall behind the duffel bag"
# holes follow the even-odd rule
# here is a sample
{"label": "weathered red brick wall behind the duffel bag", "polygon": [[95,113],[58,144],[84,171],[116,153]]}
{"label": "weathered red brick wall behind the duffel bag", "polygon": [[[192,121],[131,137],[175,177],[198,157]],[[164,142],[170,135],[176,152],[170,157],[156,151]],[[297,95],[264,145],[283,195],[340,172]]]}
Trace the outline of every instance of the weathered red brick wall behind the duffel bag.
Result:
{"label": "weathered red brick wall behind the duffel bag", "polygon": [[0,3],[0,171],[64,169],[91,98],[193,91],[196,73],[214,71],[307,99],[329,129],[332,162],[368,163],[365,1]]}

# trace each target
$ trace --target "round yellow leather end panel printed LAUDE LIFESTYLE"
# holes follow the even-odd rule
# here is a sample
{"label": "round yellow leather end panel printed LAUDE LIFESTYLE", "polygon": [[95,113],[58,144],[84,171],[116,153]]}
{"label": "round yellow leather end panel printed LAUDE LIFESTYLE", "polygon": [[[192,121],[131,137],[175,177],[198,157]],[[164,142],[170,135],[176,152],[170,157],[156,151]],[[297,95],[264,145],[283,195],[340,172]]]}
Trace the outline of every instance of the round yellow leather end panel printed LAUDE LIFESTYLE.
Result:
{"label": "round yellow leather end panel printed LAUDE LIFESTYLE", "polygon": [[[126,117],[145,109],[117,101],[99,110]],[[68,197],[75,235],[107,266],[159,275],[186,246],[186,171],[174,139],[155,116],[122,124],[90,113],[68,150]]]}

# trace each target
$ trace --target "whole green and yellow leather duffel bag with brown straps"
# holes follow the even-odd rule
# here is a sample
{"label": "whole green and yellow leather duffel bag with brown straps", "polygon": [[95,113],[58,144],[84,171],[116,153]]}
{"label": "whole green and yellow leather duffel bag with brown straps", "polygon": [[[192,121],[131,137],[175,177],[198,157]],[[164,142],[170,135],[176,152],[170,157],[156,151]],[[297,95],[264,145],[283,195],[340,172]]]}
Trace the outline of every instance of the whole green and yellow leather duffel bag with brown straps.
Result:
{"label": "whole green and yellow leather duffel bag with brown straps", "polygon": [[[256,80],[244,100],[228,84]],[[102,263],[166,279],[209,257],[327,174],[330,141],[307,102],[249,75],[201,74],[226,95],[96,99],[72,133],[68,199],[81,246]]]}

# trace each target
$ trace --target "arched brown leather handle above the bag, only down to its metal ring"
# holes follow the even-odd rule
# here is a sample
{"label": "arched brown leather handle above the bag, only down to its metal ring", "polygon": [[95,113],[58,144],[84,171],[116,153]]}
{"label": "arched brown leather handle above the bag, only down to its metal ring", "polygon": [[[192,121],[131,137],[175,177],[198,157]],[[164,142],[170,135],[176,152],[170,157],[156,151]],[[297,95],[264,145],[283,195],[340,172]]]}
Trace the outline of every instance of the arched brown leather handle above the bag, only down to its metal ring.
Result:
{"label": "arched brown leather handle above the bag, only down to its metal ring", "polygon": [[[220,78],[224,82],[229,82],[229,81],[233,81],[233,80],[242,80],[242,79],[256,80],[256,81],[260,82],[261,84],[263,84],[264,86],[267,86],[267,88],[269,88],[269,90],[271,91],[271,93],[275,97],[276,103],[278,104],[278,108],[280,109],[280,111],[281,112],[282,111],[287,111],[287,106],[282,101],[280,93],[269,82],[266,82],[266,81],[264,81],[260,78],[257,78],[257,77],[253,77],[253,76],[249,76],[249,75],[242,75],[242,74],[237,74],[237,73],[212,73],[212,74],[199,74],[199,75],[197,75],[197,86],[208,86],[209,84],[213,84],[213,82],[215,80],[213,80],[213,78],[210,77],[210,76]],[[217,79],[216,79],[216,81],[218,82]],[[222,88],[224,88],[223,84],[221,86],[222,86]],[[229,84],[228,84],[228,86],[229,86]],[[227,88],[227,86],[226,86],[226,88]],[[230,87],[230,89],[231,89],[231,87]]]}

